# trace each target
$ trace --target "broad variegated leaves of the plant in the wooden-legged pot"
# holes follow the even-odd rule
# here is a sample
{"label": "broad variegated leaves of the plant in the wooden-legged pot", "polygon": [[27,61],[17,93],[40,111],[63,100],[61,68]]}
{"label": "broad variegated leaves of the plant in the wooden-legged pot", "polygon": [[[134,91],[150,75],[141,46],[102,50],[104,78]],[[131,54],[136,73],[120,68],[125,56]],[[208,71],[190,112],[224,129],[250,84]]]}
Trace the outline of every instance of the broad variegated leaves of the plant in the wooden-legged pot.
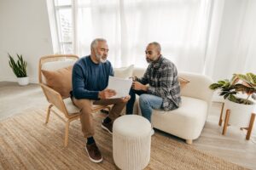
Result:
{"label": "broad variegated leaves of the plant in the wooden-legged pot", "polygon": [[[249,100],[256,99],[256,75],[253,73],[247,74],[233,74],[231,80],[224,79],[212,83],[210,87],[212,90],[220,90],[219,95],[224,96],[224,99],[230,99],[235,103],[252,105],[253,102]],[[247,94],[247,99],[236,97],[236,94]]]}

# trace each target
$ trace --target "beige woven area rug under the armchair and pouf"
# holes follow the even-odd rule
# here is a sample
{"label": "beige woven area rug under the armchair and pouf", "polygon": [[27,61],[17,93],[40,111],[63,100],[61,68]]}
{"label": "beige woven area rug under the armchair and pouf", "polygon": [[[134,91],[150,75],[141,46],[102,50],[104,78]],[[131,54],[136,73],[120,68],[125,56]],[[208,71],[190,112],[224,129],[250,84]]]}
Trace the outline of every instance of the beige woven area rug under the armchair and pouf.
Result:
{"label": "beige woven area rug under the armchair and pouf", "polygon": [[[95,139],[103,156],[102,163],[98,164],[86,155],[79,121],[71,123],[67,148],[63,146],[64,123],[52,114],[45,125],[43,109],[26,111],[0,122],[0,169],[117,169],[113,163],[112,136],[100,127],[104,116],[95,114]],[[146,169],[246,168],[155,133]]]}

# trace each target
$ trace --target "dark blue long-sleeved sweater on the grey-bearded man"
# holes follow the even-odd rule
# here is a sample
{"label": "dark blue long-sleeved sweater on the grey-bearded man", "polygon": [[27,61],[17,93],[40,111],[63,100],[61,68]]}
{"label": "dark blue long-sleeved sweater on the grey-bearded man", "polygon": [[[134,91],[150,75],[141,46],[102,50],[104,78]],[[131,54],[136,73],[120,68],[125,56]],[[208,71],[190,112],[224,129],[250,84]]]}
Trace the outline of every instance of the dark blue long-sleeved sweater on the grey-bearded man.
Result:
{"label": "dark blue long-sleeved sweater on the grey-bearded man", "polygon": [[71,95],[76,99],[98,99],[100,91],[108,87],[108,77],[113,76],[113,67],[106,63],[95,64],[90,55],[73,65]]}

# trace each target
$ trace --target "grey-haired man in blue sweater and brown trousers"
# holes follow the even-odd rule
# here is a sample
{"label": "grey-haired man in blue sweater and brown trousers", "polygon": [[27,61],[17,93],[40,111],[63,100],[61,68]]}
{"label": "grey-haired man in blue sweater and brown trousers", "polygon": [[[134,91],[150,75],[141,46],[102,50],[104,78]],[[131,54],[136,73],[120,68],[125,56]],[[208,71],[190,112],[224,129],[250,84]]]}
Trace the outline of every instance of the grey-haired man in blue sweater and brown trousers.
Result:
{"label": "grey-haired man in blue sweater and brown trousers", "polygon": [[112,133],[113,121],[119,116],[130,99],[109,99],[115,95],[113,89],[106,89],[108,77],[113,76],[113,67],[107,60],[108,43],[105,39],[96,38],[90,44],[90,55],[79,59],[73,65],[72,99],[80,109],[80,121],[84,138],[87,138],[85,150],[90,161],[101,162],[102,154],[95,139],[95,125],[91,114],[93,105],[113,105],[109,115],[102,121],[102,128]]}

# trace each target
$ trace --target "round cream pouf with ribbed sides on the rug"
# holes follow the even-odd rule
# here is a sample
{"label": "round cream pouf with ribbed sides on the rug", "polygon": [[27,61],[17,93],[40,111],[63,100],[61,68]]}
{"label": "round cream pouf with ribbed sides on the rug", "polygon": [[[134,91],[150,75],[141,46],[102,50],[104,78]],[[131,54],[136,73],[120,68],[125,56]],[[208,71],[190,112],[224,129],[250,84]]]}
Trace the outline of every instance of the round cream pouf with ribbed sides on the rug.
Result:
{"label": "round cream pouf with ribbed sides on the rug", "polygon": [[151,124],[143,116],[120,116],[113,122],[113,161],[124,170],[141,170],[150,160]]}

